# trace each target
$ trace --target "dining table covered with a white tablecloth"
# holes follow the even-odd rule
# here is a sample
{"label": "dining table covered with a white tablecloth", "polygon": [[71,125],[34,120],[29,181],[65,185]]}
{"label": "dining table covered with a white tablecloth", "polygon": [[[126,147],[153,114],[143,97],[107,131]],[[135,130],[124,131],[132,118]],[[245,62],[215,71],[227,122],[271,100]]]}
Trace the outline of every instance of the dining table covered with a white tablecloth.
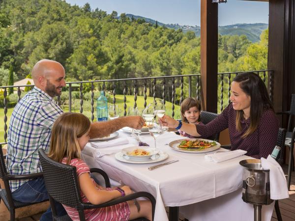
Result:
{"label": "dining table covered with a white tablecloth", "polygon": [[[180,152],[169,143],[183,139],[171,132],[163,132],[156,138],[156,149],[167,154],[161,162],[141,162],[118,160],[121,149],[138,146],[138,139],[130,133],[119,130],[114,139],[124,138],[127,143],[109,148],[111,154],[100,154],[100,148],[88,143],[82,151],[82,158],[89,167],[103,169],[111,179],[112,185],[124,183],[135,191],[146,191],[156,199],[155,221],[174,221],[181,217],[189,221],[254,221],[252,204],[242,200],[242,173],[239,162],[251,159],[239,156],[227,161],[215,163],[205,159],[211,152]],[[142,142],[153,147],[154,139],[148,133],[140,136]],[[218,153],[216,153],[218,154]],[[117,156],[117,157],[115,157]],[[117,158],[117,159],[116,159]],[[178,160],[173,164],[149,170],[149,166]],[[166,208],[170,208],[167,215]],[[263,206],[262,221],[270,221],[274,203]]]}

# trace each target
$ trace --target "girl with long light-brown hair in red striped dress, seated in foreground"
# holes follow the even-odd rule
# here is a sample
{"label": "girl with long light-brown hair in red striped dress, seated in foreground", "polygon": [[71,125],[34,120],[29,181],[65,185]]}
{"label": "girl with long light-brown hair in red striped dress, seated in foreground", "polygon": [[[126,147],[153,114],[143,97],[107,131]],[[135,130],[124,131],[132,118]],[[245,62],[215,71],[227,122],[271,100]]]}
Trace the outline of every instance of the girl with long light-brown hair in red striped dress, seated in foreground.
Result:
{"label": "girl with long light-brown hair in red striped dress, seated in foreground", "polygon": [[[90,121],[81,113],[67,112],[59,116],[52,129],[50,151],[48,156],[54,161],[76,166],[82,201],[101,204],[112,199],[132,193],[128,186],[117,188],[103,188],[90,177],[89,166],[81,160],[81,150],[89,141]],[[139,217],[151,220],[151,203],[140,200],[140,210],[133,201],[117,205],[84,210],[86,220],[114,220],[127,221]],[[75,208],[63,205],[73,221],[79,221],[79,214]]]}

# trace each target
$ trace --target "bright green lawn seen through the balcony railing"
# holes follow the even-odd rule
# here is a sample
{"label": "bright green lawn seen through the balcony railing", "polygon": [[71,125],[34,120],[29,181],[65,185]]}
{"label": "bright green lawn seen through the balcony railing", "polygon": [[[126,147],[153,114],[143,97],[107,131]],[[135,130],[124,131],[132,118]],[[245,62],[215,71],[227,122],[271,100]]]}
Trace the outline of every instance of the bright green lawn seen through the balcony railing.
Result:
{"label": "bright green lawn seen through the balcony railing", "polygon": [[[123,102],[123,98],[124,96],[123,95],[116,95],[116,104],[118,104],[121,112],[120,112],[120,116],[123,116],[124,115],[124,102]],[[133,107],[134,106],[134,96],[132,95],[127,95],[126,96],[126,105],[127,105],[127,108],[126,108],[126,112],[128,113],[128,108],[129,107]],[[151,103],[153,101],[153,98],[152,97],[148,97],[147,98],[147,104]],[[91,110],[90,108],[86,108],[86,107],[90,107],[90,105],[88,104],[90,103],[90,101],[84,101],[84,105],[83,105],[83,113],[89,117],[89,119],[91,119]],[[137,101],[136,101],[136,104],[137,104],[137,107],[139,109],[144,109],[144,103],[145,103],[145,100],[144,100],[144,97],[142,96],[138,96],[137,97]],[[94,102],[94,106],[96,105],[96,103]],[[171,102],[168,102],[166,101],[166,114],[172,116],[172,103]],[[62,110],[63,111],[68,111],[69,108],[68,106],[63,106],[62,107]],[[11,113],[13,111],[13,108],[9,108],[8,111],[7,111],[7,127],[9,125],[9,120],[10,120],[10,116],[11,116]],[[72,108],[72,112],[80,112],[80,109],[73,109]],[[174,109],[174,112],[175,112],[175,115],[174,115],[174,118],[175,119],[180,119],[181,118],[181,115],[180,115],[180,106],[178,105],[175,105],[175,109]],[[94,108],[94,121],[96,119],[96,109]],[[4,142],[4,109],[0,109],[0,142]]]}

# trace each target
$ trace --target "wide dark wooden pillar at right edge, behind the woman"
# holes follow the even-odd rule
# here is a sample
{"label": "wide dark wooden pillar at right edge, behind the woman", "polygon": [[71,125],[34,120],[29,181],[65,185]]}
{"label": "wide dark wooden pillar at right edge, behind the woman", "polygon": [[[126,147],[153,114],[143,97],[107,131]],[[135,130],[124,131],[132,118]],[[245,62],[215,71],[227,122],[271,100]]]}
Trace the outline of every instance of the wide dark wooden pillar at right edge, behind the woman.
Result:
{"label": "wide dark wooden pillar at right edge, behind the woman", "polygon": [[[293,0],[269,0],[268,61],[273,73],[273,106],[276,112],[290,109],[295,93],[295,3]],[[282,127],[287,117],[279,116]]]}

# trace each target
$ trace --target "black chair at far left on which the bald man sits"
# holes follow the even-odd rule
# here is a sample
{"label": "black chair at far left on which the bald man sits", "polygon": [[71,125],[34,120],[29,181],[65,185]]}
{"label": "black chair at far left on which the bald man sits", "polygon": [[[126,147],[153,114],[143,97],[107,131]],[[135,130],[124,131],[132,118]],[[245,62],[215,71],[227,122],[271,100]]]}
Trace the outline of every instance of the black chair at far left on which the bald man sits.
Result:
{"label": "black chair at far left on which the bald man sits", "polygon": [[[0,178],[3,180],[3,183],[4,183],[4,189],[0,189],[0,200],[2,199],[5,206],[9,210],[10,221],[15,220],[15,209],[29,206],[32,204],[36,204],[39,202],[23,203],[23,202],[19,202],[19,201],[14,200],[12,198],[12,194],[10,191],[9,180],[34,179],[34,178],[38,178],[38,177],[42,177],[42,176],[43,176],[43,174],[41,172],[27,174],[27,175],[10,175],[10,174],[8,174],[7,170],[6,170],[6,166],[5,166],[2,145],[0,145]],[[48,200],[44,200],[44,201],[48,201]]]}

